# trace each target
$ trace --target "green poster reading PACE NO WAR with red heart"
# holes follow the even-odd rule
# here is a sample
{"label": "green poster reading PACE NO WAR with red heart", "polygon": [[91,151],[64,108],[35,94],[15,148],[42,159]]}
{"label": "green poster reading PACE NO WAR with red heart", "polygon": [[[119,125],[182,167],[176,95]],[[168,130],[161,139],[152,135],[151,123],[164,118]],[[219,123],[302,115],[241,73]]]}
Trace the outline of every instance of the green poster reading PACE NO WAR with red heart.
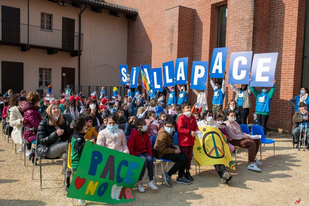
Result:
{"label": "green poster reading PACE NO WAR with red heart", "polygon": [[101,203],[134,201],[142,158],[87,141],[67,197]]}

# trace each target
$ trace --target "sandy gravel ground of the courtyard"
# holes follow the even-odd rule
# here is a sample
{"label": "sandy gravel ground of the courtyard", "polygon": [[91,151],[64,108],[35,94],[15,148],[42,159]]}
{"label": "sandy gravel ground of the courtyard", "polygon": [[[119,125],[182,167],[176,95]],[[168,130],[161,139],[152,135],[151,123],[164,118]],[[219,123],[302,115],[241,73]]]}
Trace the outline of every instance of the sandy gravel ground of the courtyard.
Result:
{"label": "sandy gravel ground of the courtyard", "polygon": [[[159,191],[147,188],[147,179],[144,179],[146,192],[141,194],[135,187],[136,201],[125,205],[294,205],[297,198],[301,198],[299,205],[309,205],[309,150],[293,149],[290,135],[272,132],[271,137],[276,140],[276,157],[273,157],[272,144],[266,145],[261,172],[247,169],[246,150],[240,149],[236,170],[228,169],[233,176],[230,185],[220,182],[213,166],[201,167],[201,173],[195,174],[192,164],[193,183],[177,185],[174,175],[173,187],[169,188],[160,182],[161,168],[158,164]],[[42,190],[39,167],[35,167],[32,180],[31,162],[26,161],[24,167],[19,153],[15,154],[12,144],[8,144],[4,137],[0,139],[0,164],[0,205],[72,205],[72,199],[63,195],[62,161],[42,161]],[[105,205],[87,202],[88,205]],[[77,202],[74,204],[77,205]]]}

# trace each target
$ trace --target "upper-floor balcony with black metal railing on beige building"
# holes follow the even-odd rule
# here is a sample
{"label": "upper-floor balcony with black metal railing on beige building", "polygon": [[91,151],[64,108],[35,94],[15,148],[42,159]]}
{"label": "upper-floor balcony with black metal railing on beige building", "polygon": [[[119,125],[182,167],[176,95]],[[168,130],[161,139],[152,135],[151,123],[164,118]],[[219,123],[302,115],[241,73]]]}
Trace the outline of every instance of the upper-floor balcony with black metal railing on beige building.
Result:
{"label": "upper-floor balcony with black metal railing on beige building", "polygon": [[[28,33],[29,47],[47,49],[48,54],[56,54],[57,51],[71,52],[71,56],[78,56],[79,33],[62,31],[58,29],[46,29],[28,24],[16,24],[0,20],[0,44],[21,46],[22,51],[27,51]],[[83,50],[83,34],[81,34],[81,51]]]}

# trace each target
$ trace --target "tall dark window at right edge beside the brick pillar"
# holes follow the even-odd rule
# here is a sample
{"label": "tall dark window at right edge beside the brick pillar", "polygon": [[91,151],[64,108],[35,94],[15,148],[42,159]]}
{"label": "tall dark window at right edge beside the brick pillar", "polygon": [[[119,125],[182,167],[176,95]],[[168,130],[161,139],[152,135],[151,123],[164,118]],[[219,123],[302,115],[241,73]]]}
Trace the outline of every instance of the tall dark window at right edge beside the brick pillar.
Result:
{"label": "tall dark window at right edge beside the brick pillar", "polygon": [[303,76],[302,86],[309,86],[309,1],[306,5],[306,24],[305,24],[305,39],[304,39],[304,54],[303,54]]}

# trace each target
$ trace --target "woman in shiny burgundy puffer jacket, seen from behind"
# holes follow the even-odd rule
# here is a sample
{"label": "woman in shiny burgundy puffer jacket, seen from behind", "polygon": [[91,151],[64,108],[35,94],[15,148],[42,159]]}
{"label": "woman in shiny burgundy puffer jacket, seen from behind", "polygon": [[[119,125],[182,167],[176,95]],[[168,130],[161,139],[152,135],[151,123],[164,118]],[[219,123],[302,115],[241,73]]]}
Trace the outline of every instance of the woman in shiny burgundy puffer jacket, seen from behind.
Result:
{"label": "woman in shiny burgundy puffer jacket, seen from behind", "polygon": [[[27,143],[27,152],[30,151],[31,145],[36,144],[36,134],[42,116],[38,111],[40,95],[38,92],[29,92],[27,101],[24,101],[21,108],[24,112],[23,125],[25,126],[24,139]],[[34,161],[34,153],[29,155],[29,160]]]}

